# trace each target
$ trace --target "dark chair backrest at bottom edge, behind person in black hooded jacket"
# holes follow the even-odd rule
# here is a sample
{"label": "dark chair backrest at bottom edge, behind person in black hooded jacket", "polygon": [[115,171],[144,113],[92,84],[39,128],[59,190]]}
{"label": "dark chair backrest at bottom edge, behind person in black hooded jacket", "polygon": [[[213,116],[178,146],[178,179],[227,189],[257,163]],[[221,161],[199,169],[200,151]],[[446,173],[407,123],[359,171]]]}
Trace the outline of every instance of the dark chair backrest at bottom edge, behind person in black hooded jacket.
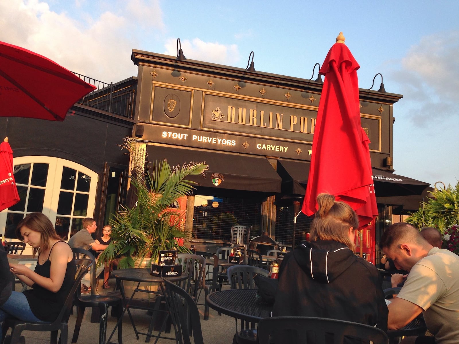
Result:
{"label": "dark chair backrest at bottom edge, behind person in black hooded jacket", "polygon": [[387,334],[379,328],[344,320],[307,316],[277,316],[258,323],[260,344],[342,344],[345,337],[359,338],[364,343],[388,344]]}

